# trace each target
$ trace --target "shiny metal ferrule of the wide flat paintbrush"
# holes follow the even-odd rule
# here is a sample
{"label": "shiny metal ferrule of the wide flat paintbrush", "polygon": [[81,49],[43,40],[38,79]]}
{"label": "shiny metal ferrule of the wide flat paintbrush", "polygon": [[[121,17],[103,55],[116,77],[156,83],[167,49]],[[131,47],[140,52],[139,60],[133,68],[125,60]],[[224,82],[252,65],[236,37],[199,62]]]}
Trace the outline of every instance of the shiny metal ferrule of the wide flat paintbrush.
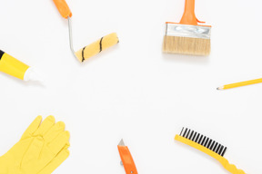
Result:
{"label": "shiny metal ferrule of the wide flat paintbrush", "polygon": [[166,35],[210,39],[211,27],[189,24],[166,24]]}

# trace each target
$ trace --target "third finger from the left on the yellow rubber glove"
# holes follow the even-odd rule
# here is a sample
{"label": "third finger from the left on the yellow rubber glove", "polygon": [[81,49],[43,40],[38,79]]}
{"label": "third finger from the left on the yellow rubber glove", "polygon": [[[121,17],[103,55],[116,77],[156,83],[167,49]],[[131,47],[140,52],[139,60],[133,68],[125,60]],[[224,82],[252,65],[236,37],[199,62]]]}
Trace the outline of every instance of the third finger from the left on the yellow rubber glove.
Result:
{"label": "third finger from the left on the yellow rubber glove", "polygon": [[46,143],[52,142],[52,140],[54,140],[63,131],[65,131],[65,123],[63,121],[56,122],[55,125],[44,135]]}

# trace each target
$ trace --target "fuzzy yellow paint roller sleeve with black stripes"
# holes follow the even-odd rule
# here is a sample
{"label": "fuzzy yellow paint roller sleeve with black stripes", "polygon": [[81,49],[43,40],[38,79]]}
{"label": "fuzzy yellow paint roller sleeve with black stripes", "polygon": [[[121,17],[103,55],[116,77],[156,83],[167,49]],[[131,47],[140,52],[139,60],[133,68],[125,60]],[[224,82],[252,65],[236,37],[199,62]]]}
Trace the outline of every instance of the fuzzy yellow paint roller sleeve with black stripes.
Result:
{"label": "fuzzy yellow paint roller sleeve with black stripes", "polygon": [[103,50],[106,50],[116,43],[119,43],[116,33],[108,34],[104,37],[101,37],[95,43],[91,43],[76,52],[76,57],[80,62],[84,62],[86,59],[102,52]]}

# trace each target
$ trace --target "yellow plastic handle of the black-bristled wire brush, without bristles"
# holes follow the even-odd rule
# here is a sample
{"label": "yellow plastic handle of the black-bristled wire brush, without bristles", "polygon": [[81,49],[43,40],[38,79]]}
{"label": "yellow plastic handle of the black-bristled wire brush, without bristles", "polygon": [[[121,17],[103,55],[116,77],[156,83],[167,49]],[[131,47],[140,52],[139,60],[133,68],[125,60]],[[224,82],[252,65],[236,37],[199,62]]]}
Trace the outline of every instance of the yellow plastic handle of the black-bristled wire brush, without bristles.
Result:
{"label": "yellow plastic handle of the black-bristled wire brush, without bristles", "polygon": [[242,169],[237,169],[237,167],[233,164],[229,164],[228,160],[224,157],[218,155],[216,152],[212,150],[208,150],[205,146],[202,146],[200,144],[197,144],[193,140],[188,140],[182,136],[176,135],[175,140],[178,140],[180,142],[183,142],[187,144],[188,146],[191,146],[195,148],[196,150],[203,151],[207,155],[213,157],[214,159],[218,160],[227,171],[231,172],[232,174],[246,174]]}

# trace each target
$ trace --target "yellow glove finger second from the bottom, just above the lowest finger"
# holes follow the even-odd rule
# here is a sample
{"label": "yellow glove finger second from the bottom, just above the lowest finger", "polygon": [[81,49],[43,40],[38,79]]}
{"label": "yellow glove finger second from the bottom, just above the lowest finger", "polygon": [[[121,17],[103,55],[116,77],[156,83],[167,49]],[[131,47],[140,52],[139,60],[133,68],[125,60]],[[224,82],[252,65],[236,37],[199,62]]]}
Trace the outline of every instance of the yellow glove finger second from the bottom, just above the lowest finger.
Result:
{"label": "yellow glove finger second from the bottom, just above the lowest finger", "polygon": [[65,147],[69,138],[69,131],[63,131],[55,138],[55,140],[48,144],[48,147],[53,153],[57,154],[60,150],[62,150]]}

